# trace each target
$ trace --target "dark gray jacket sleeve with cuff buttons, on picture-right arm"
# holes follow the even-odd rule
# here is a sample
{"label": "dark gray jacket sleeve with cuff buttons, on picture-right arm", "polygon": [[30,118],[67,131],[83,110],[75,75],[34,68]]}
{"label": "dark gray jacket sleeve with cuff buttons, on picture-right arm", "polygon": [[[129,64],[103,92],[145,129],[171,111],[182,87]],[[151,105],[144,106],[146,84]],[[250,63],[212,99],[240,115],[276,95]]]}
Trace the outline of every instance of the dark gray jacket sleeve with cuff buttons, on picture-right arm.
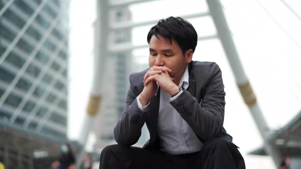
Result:
{"label": "dark gray jacket sleeve with cuff buttons, on picture-right arm", "polygon": [[217,64],[212,64],[207,77],[208,85],[202,103],[198,103],[186,90],[170,102],[203,143],[221,134],[225,105],[224,86]]}

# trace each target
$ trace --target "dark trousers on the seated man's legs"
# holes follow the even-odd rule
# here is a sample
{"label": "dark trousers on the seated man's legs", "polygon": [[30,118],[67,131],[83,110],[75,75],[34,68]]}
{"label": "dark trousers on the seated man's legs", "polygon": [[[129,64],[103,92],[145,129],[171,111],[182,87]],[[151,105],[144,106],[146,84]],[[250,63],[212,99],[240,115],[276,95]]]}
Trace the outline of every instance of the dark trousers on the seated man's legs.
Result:
{"label": "dark trousers on the seated man's legs", "polygon": [[169,155],[138,147],[107,146],[101,154],[99,169],[245,169],[237,147],[223,138],[208,140],[202,150],[183,155]]}

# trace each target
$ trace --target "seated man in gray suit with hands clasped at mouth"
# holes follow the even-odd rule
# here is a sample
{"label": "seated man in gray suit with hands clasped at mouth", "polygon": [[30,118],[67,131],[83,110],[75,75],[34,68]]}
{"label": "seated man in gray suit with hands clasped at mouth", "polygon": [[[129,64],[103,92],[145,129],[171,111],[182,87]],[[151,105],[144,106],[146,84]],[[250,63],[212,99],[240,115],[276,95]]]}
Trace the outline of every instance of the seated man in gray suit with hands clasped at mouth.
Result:
{"label": "seated man in gray suit with hands clasped at mouth", "polygon": [[[245,168],[223,128],[224,86],[216,63],[192,61],[194,27],[180,17],[160,20],[147,35],[149,69],[130,75],[118,145],[101,154],[108,168]],[[137,143],[146,123],[150,139]]]}

